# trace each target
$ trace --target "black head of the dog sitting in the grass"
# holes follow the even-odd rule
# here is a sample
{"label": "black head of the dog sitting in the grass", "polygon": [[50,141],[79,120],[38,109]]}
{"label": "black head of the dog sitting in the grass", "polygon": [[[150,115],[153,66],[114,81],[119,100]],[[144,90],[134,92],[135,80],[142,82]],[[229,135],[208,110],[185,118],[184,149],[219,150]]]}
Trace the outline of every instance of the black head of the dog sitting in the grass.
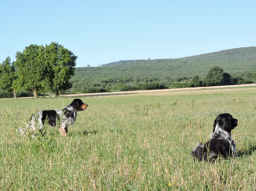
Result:
{"label": "black head of the dog sitting in the grass", "polygon": [[222,113],[217,116],[213,124],[213,132],[217,129],[223,129],[231,135],[231,130],[237,126],[237,119],[233,118],[229,113]]}

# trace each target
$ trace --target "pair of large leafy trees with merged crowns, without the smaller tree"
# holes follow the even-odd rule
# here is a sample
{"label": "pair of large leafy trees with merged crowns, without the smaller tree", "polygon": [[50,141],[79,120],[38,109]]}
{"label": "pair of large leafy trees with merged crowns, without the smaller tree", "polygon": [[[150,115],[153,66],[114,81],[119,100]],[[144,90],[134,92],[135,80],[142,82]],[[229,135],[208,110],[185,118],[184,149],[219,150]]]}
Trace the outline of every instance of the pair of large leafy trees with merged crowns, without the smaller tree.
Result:
{"label": "pair of large leafy trees with merged crowns, without the smaller tree", "polygon": [[75,74],[75,56],[70,50],[58,43],[50,45],[26,46],[24,51],[16,53],[16,90],[33,91],[37,96],[39,91],[59,91],[71,88],[69,82]]}

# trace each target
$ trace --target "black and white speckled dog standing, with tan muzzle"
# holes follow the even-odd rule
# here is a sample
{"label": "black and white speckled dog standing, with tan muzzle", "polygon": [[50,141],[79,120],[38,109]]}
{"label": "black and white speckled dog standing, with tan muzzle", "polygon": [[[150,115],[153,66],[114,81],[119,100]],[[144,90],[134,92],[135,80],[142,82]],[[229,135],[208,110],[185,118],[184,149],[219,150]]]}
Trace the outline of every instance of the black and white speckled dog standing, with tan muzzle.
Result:
{"label": "black and white speckled dog standing, with tan muzzle", "polygon": [[[65,106],[62,110],[42,110],[32,115],[26,129],[36,131],[36,127],[42,129],[44,123],[47,122],[50,126],[60,125],[59,131],[63,136],[68,134],[68,126],[73,124],[76,120],[77,111],[84,111],[87,104],[83,103],[81,99],[74,99],[70,105]],[[18,132],[25,135],[23,127],[18,128]]]}

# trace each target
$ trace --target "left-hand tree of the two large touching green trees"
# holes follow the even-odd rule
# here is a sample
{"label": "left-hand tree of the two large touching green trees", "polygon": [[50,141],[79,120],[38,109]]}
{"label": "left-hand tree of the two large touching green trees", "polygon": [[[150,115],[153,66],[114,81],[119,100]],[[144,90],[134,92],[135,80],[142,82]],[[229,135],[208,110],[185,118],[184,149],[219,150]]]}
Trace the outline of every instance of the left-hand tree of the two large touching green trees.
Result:
{"label": "left-hand tree of the two large touching green trees", "polygon": [[44,46],[26,46],[22,53],[16,53],[14,65],[17,68],[15,89],[33,91],[34,97],[37,92],[44,90],[48,72],[44,62]]}

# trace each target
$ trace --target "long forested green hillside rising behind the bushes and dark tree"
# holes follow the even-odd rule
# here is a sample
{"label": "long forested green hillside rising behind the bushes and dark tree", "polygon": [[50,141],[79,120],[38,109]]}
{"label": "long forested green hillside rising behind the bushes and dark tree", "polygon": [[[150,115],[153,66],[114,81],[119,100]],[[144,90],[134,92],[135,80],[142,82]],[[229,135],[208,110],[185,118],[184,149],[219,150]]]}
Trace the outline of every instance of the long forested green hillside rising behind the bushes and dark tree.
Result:
{"label": "long forested green hillside rising behind the bushes and dark tree", "polygon": [[246,80],[252,80],[256,67],[256,46],[179,59],[136,60],[101,67],[78,67],[70,81],[75,91],[88,88],[118,91],[123,90],[120,89],[123,85],[133,90],[131,87],[152,82],[170,88],[172,84],[188,82],[194,75],[203,80],[214,66],[219,66],[232,77],[242,76]]}

